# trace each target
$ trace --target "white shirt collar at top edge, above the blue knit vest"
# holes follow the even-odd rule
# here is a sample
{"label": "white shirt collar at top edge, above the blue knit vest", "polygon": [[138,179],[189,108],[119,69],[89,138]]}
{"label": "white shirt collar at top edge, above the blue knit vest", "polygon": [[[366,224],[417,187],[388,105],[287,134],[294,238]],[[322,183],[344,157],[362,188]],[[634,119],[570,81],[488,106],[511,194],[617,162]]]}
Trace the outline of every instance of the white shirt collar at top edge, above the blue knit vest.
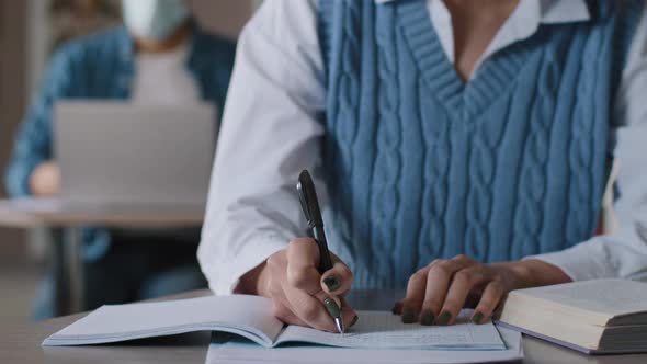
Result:
{"label": "white shirt collar at top edge, above the blue knit vest", "polygon": [[[386,3],[398,0],[374,0],[376,3]],[[442,0],[428,0],[442,1]],[[584,0],[521,0],[520,5],[532,8],[537,23],[570,23],[582,22],[590,19],[589,8]]]}

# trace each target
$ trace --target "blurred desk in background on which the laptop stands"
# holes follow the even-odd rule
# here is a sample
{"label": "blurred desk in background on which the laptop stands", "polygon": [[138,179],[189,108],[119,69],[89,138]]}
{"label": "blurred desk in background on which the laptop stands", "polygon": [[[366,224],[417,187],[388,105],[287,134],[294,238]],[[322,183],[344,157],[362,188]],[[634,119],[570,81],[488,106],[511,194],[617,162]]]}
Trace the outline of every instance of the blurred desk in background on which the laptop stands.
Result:
{"label": "blurred desk in background on which the laptop stands", "polygon": [[52,249],[57,261],[57,291],[64,293],[58,307],[64,314],[80,312],[83,300],[81,228],[179,228],[200,227],[204,208],[182,206],[118,205],[99,208],[63,204],[55,198],[0,200],[0,226],[13,228],[60,228],[61,246]]}

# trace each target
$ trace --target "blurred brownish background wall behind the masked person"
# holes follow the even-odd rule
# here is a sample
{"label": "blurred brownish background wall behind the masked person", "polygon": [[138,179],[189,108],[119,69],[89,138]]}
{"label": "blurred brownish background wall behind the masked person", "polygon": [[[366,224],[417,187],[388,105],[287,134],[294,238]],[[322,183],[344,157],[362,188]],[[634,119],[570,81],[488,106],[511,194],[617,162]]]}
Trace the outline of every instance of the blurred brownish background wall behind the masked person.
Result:
{"label": "blurred brownish background wall behind the masked person", "polygon": [[[258,0],[188,0],[198,21],[236,38]],[[0,0],[0,174],[13,135],[52,50],[63,41],[120,22],[118,0]],[[1,183],[0,197],[4,197]],[[42,231],[0,227],[0,325],[24,320],[44,270]]]}

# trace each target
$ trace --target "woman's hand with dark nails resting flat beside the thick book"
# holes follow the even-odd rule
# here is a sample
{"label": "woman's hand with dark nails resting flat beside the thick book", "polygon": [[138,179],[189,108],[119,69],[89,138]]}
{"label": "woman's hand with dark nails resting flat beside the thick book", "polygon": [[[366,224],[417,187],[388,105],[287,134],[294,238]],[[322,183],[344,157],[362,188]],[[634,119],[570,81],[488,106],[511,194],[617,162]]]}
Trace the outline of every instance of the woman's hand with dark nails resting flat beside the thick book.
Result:
{"label": "woman's hand with dark nails resting flat beside the thick book", "polygon": [[559,268],[540,260],[481,264],[468,257],[436,259],[409,278],[407,296],[394,307],[402,322],[452,325],[463,307],[475,307],[480,323],[518,288],[570,282]]}

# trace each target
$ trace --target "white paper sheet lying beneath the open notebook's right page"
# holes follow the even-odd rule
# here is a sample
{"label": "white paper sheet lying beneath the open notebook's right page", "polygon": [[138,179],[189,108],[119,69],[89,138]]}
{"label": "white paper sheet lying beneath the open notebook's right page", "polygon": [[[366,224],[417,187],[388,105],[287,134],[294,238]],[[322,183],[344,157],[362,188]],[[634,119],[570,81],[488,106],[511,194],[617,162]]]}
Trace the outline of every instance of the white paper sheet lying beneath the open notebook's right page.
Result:
{"label": "white paper sheet lying beneath the open notebook's right page", "polygon": [[401,364],[462,364],[511,362],[523,359],[521,333],[498,328],[506,344],[504,350],[366,350],[330,346],[279,346],[264,349],[246,341],[229,341],[209,345],[206,364],[216,363],[401,363]]}

